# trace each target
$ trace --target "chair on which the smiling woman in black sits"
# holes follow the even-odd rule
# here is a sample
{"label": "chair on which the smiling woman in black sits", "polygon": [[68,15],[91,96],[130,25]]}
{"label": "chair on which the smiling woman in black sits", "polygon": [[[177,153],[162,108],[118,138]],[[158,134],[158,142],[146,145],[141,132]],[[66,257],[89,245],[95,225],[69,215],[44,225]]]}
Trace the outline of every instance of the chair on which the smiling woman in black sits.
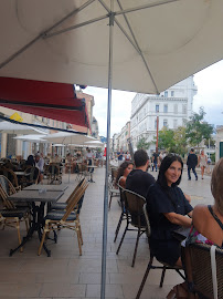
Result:
{"label": "chair on which the smiling woman in black sits", "polygon": [[[149,216],[148,216],[148,213],[147,213],[147,204],[144,205],[144,215],[145,215],[145,219],[146,219],[146,225],[147,225],[147,236],[148,236],[148,239],[150,238],[150,235],[151,235],[151,229],[150,229],[150,224],[149,224]],[[162,285],[163,285],[163,281],[164,281],[164,275],[166,275],[166,270],[176,270],[183,279],[185,279],[185,277],[183,276],[183,274],[181,274],[180,270],[182,270],[181,267],[178,267],[178,266],[170,266],[168,264],[164,264],[162,261],[159,260],[159,262],[161,264],[160,266],[155,266],[153,265],[153,259],[155,259],[155,252],[152,252],[151,250],[150,251],[150,259],[149,259],[149,262],[148,262],[148,266],[147,266],[147,269],[146,269],[146,272],[144,275],[144,278],[141,280],[141,285],[139,287],[139,290],[137,292],[137,296],[136,296],[136,299],[139,299],[140,296],[141,296],[141,292],[142,292],[142,289],[144,289],[144,286],[147,281],[147,277],[150,272],[151,269],[161,269],[162,270],[162,274],[161,274],[161,279],[160,279],[160,285],[159,287],[162,288]]]}

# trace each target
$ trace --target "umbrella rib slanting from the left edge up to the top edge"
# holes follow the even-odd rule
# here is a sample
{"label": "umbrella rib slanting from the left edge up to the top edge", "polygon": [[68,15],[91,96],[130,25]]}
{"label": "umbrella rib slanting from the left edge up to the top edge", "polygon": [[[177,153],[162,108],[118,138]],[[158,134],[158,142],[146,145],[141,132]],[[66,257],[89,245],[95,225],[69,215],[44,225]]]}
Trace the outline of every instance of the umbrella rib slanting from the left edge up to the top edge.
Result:
{"label": "umbrella rib slanting from the left edge up to the top edge", "polygon": [[20,50],[18,50],[17,52],[14,52],[12,55],[10,55],[8,59],[6,59],[3,62],[0,63],[0,69],[2,69],[3,66],[6,66],[8,63],[10,63],[12,60],[14,60],[17,56],[19,56],[21,53],[23,53],[26,49],[29,49],[33,43],[35,43],[36,41],[39,41],[40,39],[44,38],[47,32],[50,32],[51,30],[53,30],[55,27],[60,25],[61,23],[63,23],[65,20],[67,20],[68,18],[71,18],[72,16],[74,16],[75,13],[79,12],[81,10],[85,9],[87,6],[92,4],[95,0],[88,0],[86,3],[84,3],[83,6],[81,6],[77,9],[74,9],[72,12],[70,12],[67,16],[65,16],[64,18],[62,18],[59,22],[56,22],[55,24],[53,24],[52,27],[50,27],[49,29],[46,29],[44,32],[41,32],[39,35],[36,35],[33,40],[31,40],[29,43],[26,43],[25,45],[23,45]]}

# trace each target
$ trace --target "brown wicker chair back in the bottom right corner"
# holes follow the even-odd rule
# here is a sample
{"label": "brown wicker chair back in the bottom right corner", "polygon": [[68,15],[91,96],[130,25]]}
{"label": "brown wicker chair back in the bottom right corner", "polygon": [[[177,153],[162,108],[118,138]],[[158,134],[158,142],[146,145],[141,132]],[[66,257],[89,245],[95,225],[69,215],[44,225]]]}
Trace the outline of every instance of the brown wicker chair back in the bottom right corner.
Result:
{"label": "brown wicker chair back in the bottom right corner", "polygon": [[[190,299],[223,298],[223,249],[215,249],[216,270],[211,264],[211,247],[206,244],[192,244],[182,248]],[[213,272],[212,272],[213,270]]]}

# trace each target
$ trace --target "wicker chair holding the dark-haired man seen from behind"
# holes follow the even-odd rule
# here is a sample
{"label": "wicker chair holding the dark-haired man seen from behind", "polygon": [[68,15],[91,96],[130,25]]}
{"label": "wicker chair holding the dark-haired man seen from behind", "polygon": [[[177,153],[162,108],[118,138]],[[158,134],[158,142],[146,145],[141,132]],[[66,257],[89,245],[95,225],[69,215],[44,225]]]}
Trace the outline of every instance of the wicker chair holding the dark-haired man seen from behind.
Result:
{"label": "wicker chair holding the dark-haired man seen from behind", "polygon": [[[131,267],[134,267],[139,238],[142,236],[144,233],[147,231],[146,220],[145,220],[145,216],[142,212],[142,207],[146,203],[146,199],[145,197],[127,189],[124,192],[124,198],[125,198],[125,207],[127,209],[127,213],[129,214],[129,218],[127,218],[126,228],[124,230],[116,255],[118,255],[120,250],[120,247],[121,247],[121,244],[124,241],[127,230],[136,230],[137,238],[136,238],[134,258],[131,262]],[[134,226],[135,228],[129,228],[129,224]]]}

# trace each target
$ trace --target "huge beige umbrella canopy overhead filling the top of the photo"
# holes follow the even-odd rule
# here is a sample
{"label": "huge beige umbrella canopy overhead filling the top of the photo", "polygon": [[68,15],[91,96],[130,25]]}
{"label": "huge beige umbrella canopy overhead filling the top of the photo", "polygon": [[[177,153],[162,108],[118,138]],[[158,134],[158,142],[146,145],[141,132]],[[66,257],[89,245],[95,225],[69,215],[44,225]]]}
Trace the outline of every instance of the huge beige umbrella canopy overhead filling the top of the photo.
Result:
{"label": "huge beige umbrella canopy overhead filling the top of the photo", "polygon": [[[110,3],[0,1],[0,76],[108,87]],[[223,58],[222,0],[118,0],[114,11],[113,89],[159,93]]]}

